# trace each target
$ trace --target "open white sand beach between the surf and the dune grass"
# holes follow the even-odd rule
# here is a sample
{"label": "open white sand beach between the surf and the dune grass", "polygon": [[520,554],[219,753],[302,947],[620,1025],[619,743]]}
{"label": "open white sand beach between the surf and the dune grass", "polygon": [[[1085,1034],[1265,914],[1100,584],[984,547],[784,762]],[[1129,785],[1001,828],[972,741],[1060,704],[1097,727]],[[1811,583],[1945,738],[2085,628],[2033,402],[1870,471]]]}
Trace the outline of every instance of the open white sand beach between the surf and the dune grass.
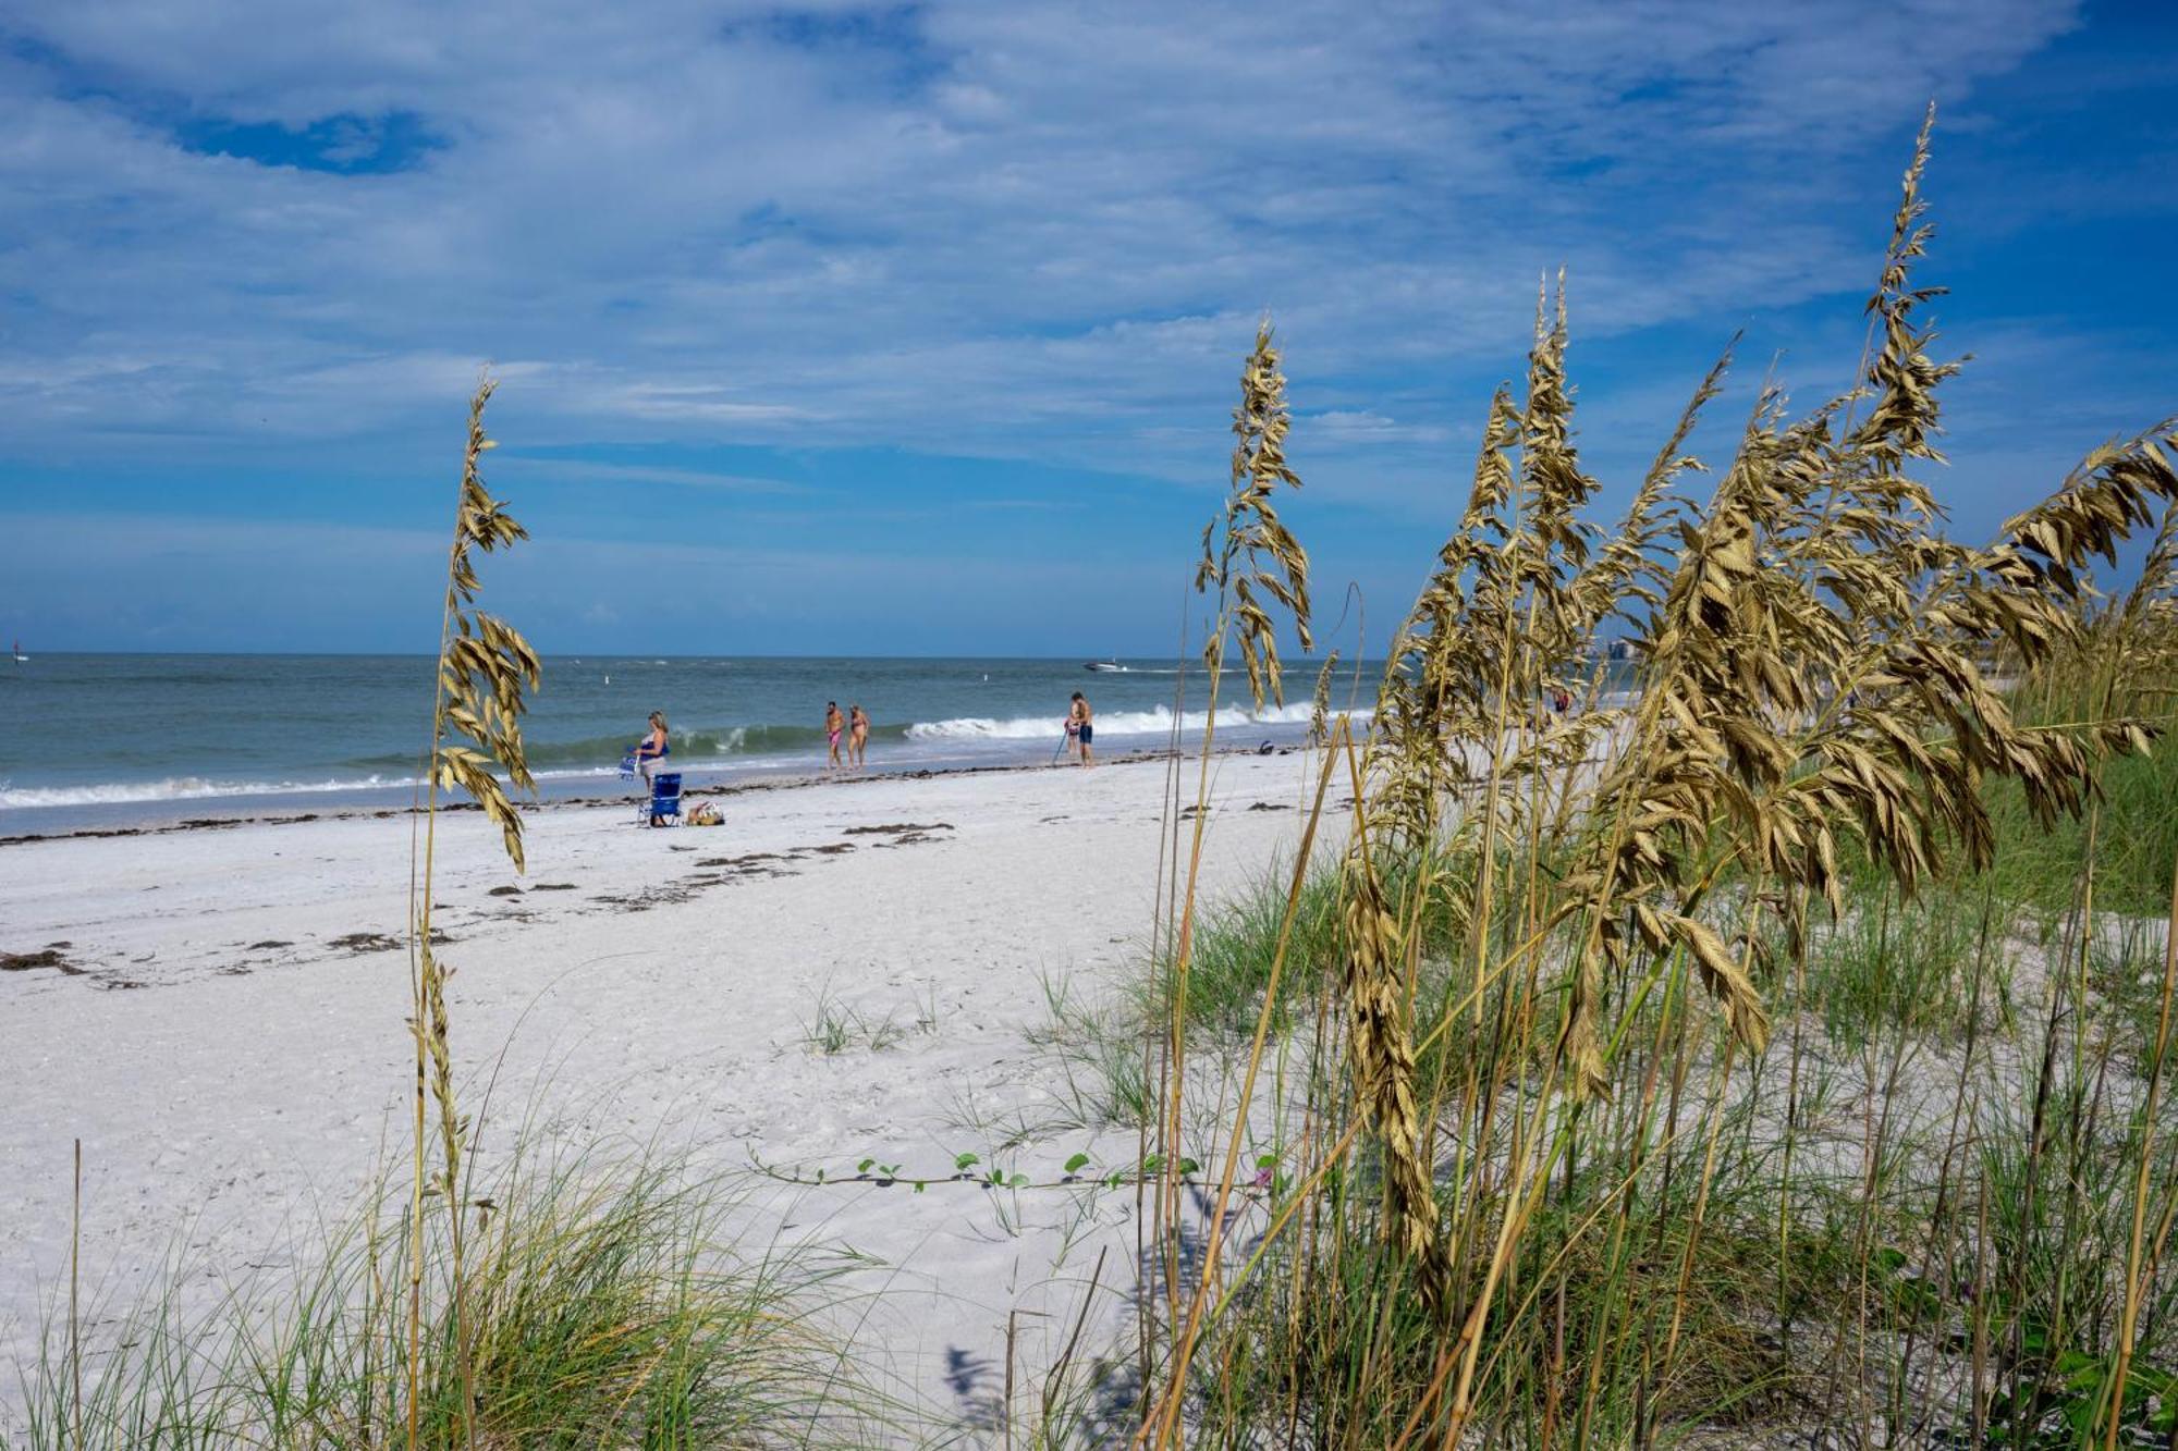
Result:
{"label": "open white sand beach between the surf and the dune grass", "polygon": [[[1292,845],[1302,763],[1218,763],[1211,895]],[[484,1153],[538,1107],[571,1139],[662,1135],[727,1170],[751,1153],[832,1174],[869,1155],[950,1172],[963,1150],[1037,1179],[1076,1150],[1130,1163],[1133,1129],[1063,1126],[1080,1109],[1030,1035],[1050,1022],[1043,978],[1096,998],[1139,965],[1163,789],[1163,763],[819,782],[723,797],[723,828],[662,832],[629,808],[549,808],[531,815],[518,898],[488,895],[518,880],[497,832],[446,817],[457,1059],[486,1074],[503,1054]],[[902,824],[926,830],[856,830]],[[758,852],[775,858],[701,865]],[[405,817],[0,848],[0,952],[68,943],[74,967],[0,974],[0,1429],[7,1370],[65,1290],[72,1139],[107,1314],[176,1248],[203,1285],[281,1275],[294,1231],[351,1214],[381,1135],[403,1148],[405,952],[333,943],[401,935],[407,861]],[[573,889],[540,889],[558,882]],[[889,1020],[897,1044],[810,1048],[823,993]],[[1133,1288],[1133,1190],[758,1183],[771,1231],[878,1261],[856,1281],[886,1290],[865,1366],[941,1418],[989,1414],[1015,1309],[1032,1403],[1100,1248],[1106,1288]],[[1124,1318],[1106,1296],[1091,1340]]]}

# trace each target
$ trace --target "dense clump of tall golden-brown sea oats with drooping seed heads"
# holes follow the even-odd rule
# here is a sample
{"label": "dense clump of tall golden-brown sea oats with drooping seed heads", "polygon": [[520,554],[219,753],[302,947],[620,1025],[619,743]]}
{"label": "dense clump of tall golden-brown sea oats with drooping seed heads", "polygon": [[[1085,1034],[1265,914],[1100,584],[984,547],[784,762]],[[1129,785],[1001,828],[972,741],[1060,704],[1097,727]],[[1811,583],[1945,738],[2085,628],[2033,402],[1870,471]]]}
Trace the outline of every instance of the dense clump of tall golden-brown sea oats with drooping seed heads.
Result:
{"label": "dense clump of tall golden-brown sea oats with drooping seed heads", "polygon": [[[1394,636],[1370,741],[1350,765],[1329,1002],[1342,1057],[1335,1089],[1302,1107],[1296,1198],[1265,1229],[1265,1246],[1307,1235],[1294,1318],[1265,1336],[1300,1346],[1298,1320],[1320,1316],[1348,1401],[1316,1401],[1309,1414],[1326,1418],[1316,1431],[1335,1444],[1383,1427],[1370,1392],[1394,1386],[1403,1412],[1390,1425],[1405,1429],[1387,1444],[1459,1444],[1485,1355],[1538,1349],[1533,1316],[1551,1294],[1564,1314],[1568,1268],[1538,1264],[1529,1231],[1559,1170],[1573,1183],[1583,1115],[1610,1109],[1629,1074],[1634,1115],[1655,1126],[1644,1144],[1666,1192],[1677,1174],[1692,1216],[1681,1242],[1647,1251],[1657,1318],[1629,1279],[1627,1301],[1583,1333],[1634,1336],[1616,1344],[1638,1366],[1636,1427],[1649,1438],[1660,1414],[1649,1388],[1681,1375],[1701,1292],[1723,1087],[1769,1044],[1773,954],[1803,961],[1810,911],[1843,917],[1847,858],[1873,863],[1906,895],[1986,867],[1993,787],[2017,791],[2043,826],[2089,813],[2102,763],[2145,752],[2169,715],[2148,684],[2121,688],[2178,667],[2169,423],[2095,449],[1986,545],[1949,538],[1923,479],[1945,462],[1941,390],[1960,366],[1938,359],[1928,322],[1941,290],[1914,279],[1934,235],[1921,196],[1932,122],[1934,111],[1901,179],[1853,386],[1795,416],[1764,383],[1705,499],[1684,492],[1708,473],[1688,440],[1738,340],[1694,388],[1612,534],[1583,521],[1596,484],[1577,451],[1564,277],[1538,301],[1525,394],[1501,388],[1490,403],[1466,503]],[[2100,606],[2093,562],[2115,562],[2148,529],[2141,584]],[[1204,536],[1202,580],[1226,577]],[[1605,630],[1623,632],[1625,673],[1601,651]],[[2032,680],[2067,660],[2100,662],[2097,708],[2056,721],[2019,712],[1997,667]],[[1215,647],[1209,662],[1215,671]],[[1583,708],[1553,719],[1544,702],[1559,693]],[[1333,723],[1324,732],[1337,736]],[[1714,1048],[1703,1046],[1710,1024]],[[1699,1061],[1705,1094],[1690,1087]],[[1165,1092],[1178,1092],[1176,1074]],[[1246,1102],[1244,1092],[1241,1115]],[[1176,1144],[1176,1122],[1167,1133]],[[1357,1146],[1381,1159],[1357,1161]],[[1625,1170],[1625,1203],[1655,1172],[1649,1150]],[[1324,1198],[1355,1163],[1381,1194]],[[1612,1224],[1612,1264],[1627,1266],[1640,1251],[1614,1203],[1575,1209],[1581,1224]],[[2158,1244],[2152,1229],[2137,1224],[2141,1261]],[[1398,1264],[1372,1294],[1411,1290],[1435,1325],[1422,1364],[1394,1342],[1390,1301],[1368,1314],[1302,1307],[1309,1277],[1335,1275],[1370,1242]],[[1864,1255],[1867,1240],[1862,1266]],[[1207,1275],[1220,1272],[1211,1255]],[[1235,1296],[1226,1288],[1218,1305]],[[1507,1318],[1529,1340],[1492,1346]],[[1549,1329],[1551,1355],[1573,1329]],[[1157,1399],[1161,1440],[1185,1366],[1180,1355]],[[1601,1366],[1583,1418],[1599,1377]],[[1302,1425],[1307,1392],[1289,1394],[1287,1420]],[[1551,1401],[1544,1425],[1557,1414]]]}

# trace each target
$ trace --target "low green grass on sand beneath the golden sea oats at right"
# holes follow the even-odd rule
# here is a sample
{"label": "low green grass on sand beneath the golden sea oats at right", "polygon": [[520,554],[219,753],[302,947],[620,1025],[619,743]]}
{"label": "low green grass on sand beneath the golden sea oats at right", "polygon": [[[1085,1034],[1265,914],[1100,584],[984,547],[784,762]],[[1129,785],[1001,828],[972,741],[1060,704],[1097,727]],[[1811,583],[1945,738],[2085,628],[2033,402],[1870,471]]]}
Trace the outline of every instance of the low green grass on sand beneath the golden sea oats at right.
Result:
{"label": "low green grass on sand beneath the golden sea oats at right", "polygon": [[[2021,845],[2063,865],[2045,841]],[[2067,867],[2073,889],[2084,865]],[[1311,895],[1335,880],[1320,874]],[[1642,1044],[1623,1050],[1625,1092],[1566,1126],[1507,1268],[1516,1298],[1483,1327],[1485,1442],[1816,1425],[1962,1442],[1980,1420],[1989,1444],[2087,1444],[2067,1438],[2078,1429],[2067,1416],[2095,1423],[2093,1375],[2110,1366],[2137,1203],[2128,1176],[2148,1166],[2152,1227],[2178,1194],[2174,1135],[2143,1118],[2161,924],[2110,932],[2084,976],[2065,972],[2067,924],[2049,924],[2045,893],[2004,895],[2004,880],[1858,891],[1838,924],[1812,932],[1797,974],[1764,980],[1777,1031],[1751,1061],[1723,1063],[1688,1020],[1694,967],[1666,970],[1649,1011],[1627,1020]],[[1204,956],[1265,963],[1263,922],[1283,900],[1263,885],[1211,913]],[[1337,932],[1318,948],[1337,950]],[[1159,1004],[1148,985],[1141,1000]],[[1437,1000],[1429,974],[1418,1000]],[[1309,1002],[1296,993],[1287,1007],[1298,1017]],[[1200,1059],[1239,1031],[1228,1013],[1200,1013],[1194,1033]],[[1533,1092],[1533,1039],[1546,1037],[1531,1035],[1503,1072],[1501,1111]],[[1444,1039],[1427,1044],[1416,1078],[1464,1072],[1488,1048],[1475,1035],[1451,1054]],[[1339,1089],[1337,1070],[1298,1081],[1300,1113]],[[1503,1155],[1440,1157],[1437,1211],[1501,1209],[1496,1174]],[[1383,1185],[1381,1150],[1363,1142],[1311,1194],[1270,1209],[1294,1209],[1300,1227],[1257,1264],[1200,1353],[1218,1373],[1187,1390],[1196,1434],[1372,1447],[1409,1429],[1444,1329],[1411,1257],[1372,1233]],[[2178,1275],[2165,1257],[2137,1283],[2145,1336],[2126,1425],[2163,1434]]]}

